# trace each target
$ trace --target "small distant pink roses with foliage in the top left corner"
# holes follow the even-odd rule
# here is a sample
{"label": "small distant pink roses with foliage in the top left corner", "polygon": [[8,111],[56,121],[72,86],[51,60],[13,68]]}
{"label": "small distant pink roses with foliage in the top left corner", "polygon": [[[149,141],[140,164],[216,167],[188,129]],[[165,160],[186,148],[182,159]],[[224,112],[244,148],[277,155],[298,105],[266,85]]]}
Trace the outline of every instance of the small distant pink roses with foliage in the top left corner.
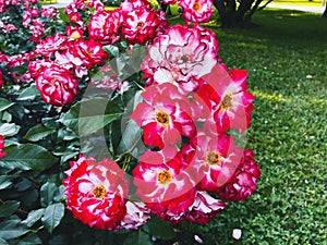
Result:
{"label": "small distant pink roses with foliage in the top left corner", "polygon": [[[31,82],[31,74],[23,72],[26,64],[35,59],[35,46],[55,29],[61,28],[59,11],[53,7],[41,7],[37,0],[0,1],[0,62],[4,62],[10,81]],[[23,69],[14,69],[22,66]]]}

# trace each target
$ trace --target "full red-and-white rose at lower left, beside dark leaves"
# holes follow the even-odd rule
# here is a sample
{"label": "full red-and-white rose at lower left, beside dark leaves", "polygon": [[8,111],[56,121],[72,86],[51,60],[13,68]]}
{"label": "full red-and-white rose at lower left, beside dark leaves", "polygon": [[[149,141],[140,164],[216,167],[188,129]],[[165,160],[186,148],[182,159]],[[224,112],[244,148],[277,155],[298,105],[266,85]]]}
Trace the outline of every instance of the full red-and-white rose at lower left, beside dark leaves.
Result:
{"label": "full red-and-white rose at lower left, beside dark leaves", "polygon": [[[97,162],[81,156],[70,163],[68,177],[63,180],[66,208],[75,219],[92,228],[117,230],[126,215],[129,183],[124,171],[109,159]],[[125,220],[121,225],[125,223],[130,222]]]}

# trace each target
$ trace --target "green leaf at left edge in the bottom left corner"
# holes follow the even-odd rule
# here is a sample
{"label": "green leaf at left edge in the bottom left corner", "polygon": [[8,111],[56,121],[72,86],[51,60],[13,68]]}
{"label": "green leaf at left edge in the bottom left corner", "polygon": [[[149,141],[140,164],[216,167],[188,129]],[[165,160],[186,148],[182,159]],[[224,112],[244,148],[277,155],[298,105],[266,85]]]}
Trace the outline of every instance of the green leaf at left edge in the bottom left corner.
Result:
{"label": "green leaf at left edge in the bottom left corner", "polygon": [[7,220],[0,223],[0,238],[11,240],[20,237],[29,232],[29,230],[21,225],[21,220]]}

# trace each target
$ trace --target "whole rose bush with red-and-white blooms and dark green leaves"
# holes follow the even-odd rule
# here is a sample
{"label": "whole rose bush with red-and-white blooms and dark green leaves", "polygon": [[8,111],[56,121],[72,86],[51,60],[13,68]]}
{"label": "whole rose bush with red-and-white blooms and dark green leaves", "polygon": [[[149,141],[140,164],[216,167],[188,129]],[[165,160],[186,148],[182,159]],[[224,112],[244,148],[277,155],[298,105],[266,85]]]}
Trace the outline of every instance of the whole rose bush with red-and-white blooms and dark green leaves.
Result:
{"label": "whole rose bush with red-and-white blooms and dark green leaves", "polygon": [[179,5],[186,25],[146,0],[75,0],[65,23],[0,2],[1,243],[153,244],[254,193],[259,167],[234,138],[251,126],[246,71],[199,25],[211,1]]}

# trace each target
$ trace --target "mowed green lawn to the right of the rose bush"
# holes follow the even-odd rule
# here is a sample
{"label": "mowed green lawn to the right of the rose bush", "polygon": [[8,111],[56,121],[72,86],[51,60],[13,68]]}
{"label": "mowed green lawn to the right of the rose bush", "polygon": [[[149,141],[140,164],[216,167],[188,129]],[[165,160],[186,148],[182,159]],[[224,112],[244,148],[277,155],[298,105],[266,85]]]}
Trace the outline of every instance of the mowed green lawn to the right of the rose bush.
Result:
{"label": "mowed green lawn to the right of the rose bush", "polygon": [[[249,71],[256,96],[247,147],[262,168],[255,195],[229,204],[205,244],[327,244],[327,20],[265,10],[252,29],[214,28],[220,58]],[[233,229],[242,230],[240,241]]]}

